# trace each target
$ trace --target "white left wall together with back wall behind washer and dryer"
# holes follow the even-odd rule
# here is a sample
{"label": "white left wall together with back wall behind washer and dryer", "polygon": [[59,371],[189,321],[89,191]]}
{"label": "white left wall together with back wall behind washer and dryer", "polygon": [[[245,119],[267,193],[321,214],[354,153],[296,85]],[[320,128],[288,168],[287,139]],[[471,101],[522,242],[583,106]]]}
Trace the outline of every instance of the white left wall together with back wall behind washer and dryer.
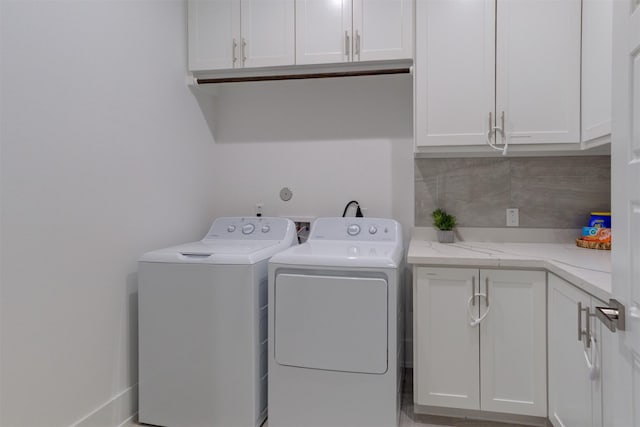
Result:
{"label": "white left wall together with back wall behind washer and dryer", "polygon": [[181,0],[0,1],[1,426],[71,425],[135,391],[135,261],[215,216],[357,199],[408,236],[410,77],[194,97]]}

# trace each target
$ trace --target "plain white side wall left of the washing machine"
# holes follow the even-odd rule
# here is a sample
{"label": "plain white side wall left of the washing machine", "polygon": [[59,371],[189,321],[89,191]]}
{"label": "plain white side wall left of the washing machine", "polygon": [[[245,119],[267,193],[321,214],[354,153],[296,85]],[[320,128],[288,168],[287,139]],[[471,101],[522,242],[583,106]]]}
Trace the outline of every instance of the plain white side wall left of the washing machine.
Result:
{"label": "plain white side wall left of the washing machine", "polygon": [[181,1],[1,7],[0,425],[68,426],[137,382],[135,261],[206,231],[213,144]]}

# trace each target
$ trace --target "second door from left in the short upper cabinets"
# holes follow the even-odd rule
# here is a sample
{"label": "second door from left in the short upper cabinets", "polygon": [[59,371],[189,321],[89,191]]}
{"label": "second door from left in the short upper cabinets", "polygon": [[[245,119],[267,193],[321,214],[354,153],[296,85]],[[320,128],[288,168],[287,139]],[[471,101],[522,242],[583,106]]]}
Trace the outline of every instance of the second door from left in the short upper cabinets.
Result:
{"label": "second door from left in the short upper cabinets", "polygon": [[294,0],[241,0],[244,67],[295,63]]}

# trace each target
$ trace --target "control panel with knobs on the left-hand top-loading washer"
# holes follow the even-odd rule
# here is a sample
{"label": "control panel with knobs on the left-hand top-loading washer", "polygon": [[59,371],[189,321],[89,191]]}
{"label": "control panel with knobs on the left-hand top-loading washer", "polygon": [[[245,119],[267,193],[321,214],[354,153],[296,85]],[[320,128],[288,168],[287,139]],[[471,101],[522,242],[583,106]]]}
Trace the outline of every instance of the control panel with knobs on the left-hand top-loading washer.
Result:
{"label": "control panel with knobs on the left-hand top-loading washer", "polygon": [[223,217],[213,222],[203,240],[282,240],[292,228],[287,218]]}

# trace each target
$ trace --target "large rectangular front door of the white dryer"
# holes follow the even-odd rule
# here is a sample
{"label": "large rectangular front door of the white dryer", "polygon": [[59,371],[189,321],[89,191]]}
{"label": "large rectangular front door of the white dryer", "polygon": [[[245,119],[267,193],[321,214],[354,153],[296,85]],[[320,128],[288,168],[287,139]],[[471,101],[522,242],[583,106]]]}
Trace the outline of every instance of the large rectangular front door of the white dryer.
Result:
{"label": "large rectangular front door of the white dryer", "polygon": [[387,371],[385,279],[278,274],[274,299],[278,364],[368,374]]}

